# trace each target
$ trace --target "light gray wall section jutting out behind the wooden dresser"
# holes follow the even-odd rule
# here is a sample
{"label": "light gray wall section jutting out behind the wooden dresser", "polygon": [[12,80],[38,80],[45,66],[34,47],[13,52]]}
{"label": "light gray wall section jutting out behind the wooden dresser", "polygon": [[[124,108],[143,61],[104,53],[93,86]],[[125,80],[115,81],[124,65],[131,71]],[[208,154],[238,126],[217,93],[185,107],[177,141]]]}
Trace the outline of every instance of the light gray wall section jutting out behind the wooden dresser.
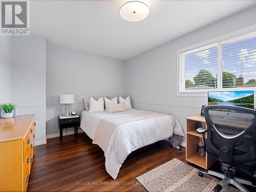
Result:
{"label": "light gray wall section jutting out behind the wooden dresser", "polygon": [[36,114],[36,142],[46,142],[46,38],[12,37],[11,101],[17,115]]}

